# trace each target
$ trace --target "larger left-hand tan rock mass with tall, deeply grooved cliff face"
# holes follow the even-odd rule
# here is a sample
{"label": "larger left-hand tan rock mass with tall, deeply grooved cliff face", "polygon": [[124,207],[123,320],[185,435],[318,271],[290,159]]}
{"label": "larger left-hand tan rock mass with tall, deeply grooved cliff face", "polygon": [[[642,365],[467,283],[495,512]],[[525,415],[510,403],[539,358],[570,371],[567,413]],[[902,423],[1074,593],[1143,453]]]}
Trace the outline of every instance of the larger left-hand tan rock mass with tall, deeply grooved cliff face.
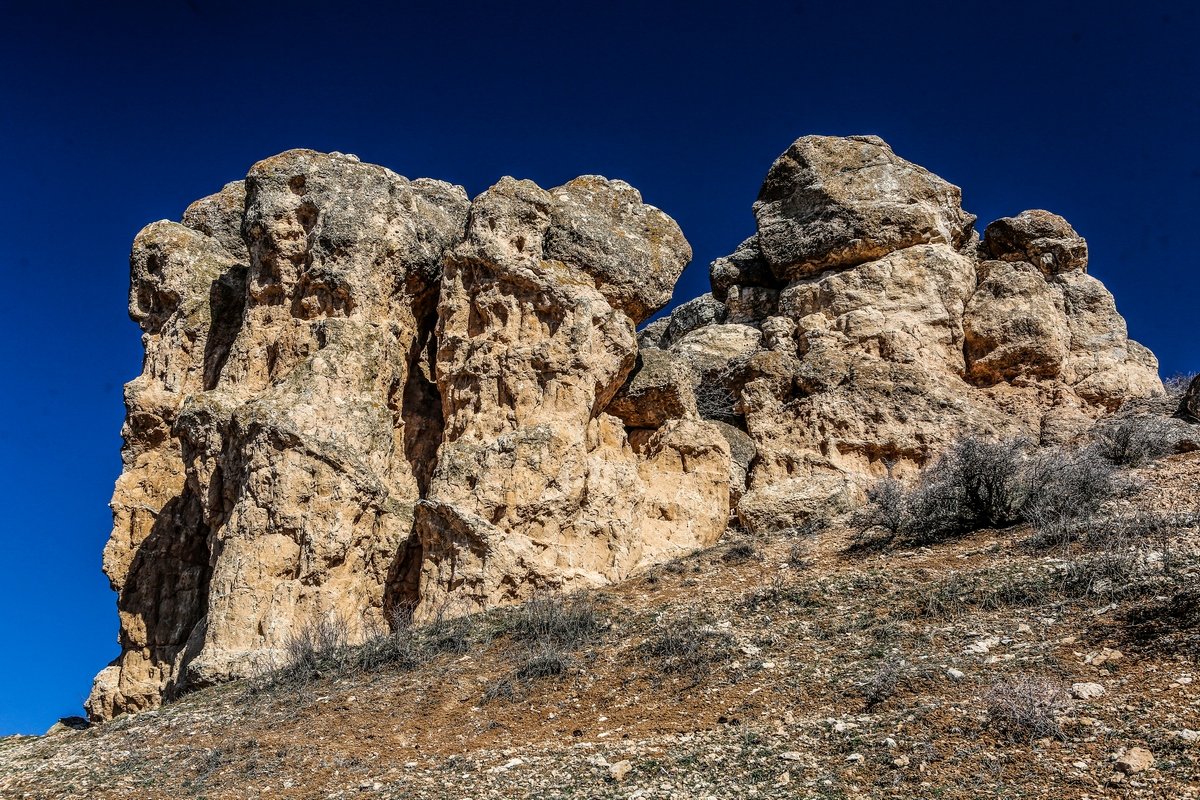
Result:
{"label": "larger left-hand tan rock mass with tall, deeply grooved cliff face", "polygon": [[90,715],[251,674],[329,615],[361,638],[715,541],[718,426],[606,413],[690,258],[620,181],[470,203],[308,150],[149,225],[104,551],[122,651]]}

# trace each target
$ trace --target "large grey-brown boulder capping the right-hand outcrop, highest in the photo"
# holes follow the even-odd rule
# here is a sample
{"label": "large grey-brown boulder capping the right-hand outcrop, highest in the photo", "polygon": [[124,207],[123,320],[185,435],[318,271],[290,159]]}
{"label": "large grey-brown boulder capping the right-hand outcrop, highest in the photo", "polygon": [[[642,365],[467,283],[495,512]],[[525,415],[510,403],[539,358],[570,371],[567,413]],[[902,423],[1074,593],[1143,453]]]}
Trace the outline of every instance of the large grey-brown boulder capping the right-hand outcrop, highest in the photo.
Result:
{"label": "large grey-brown boulder capping the right-hand outcrop, highest in the photo", "polygon": [[797,139],[754,204],[758,243],[779,278],[883,258],[905,247],[970,239],[961,192],[900,158],[874,136]]}

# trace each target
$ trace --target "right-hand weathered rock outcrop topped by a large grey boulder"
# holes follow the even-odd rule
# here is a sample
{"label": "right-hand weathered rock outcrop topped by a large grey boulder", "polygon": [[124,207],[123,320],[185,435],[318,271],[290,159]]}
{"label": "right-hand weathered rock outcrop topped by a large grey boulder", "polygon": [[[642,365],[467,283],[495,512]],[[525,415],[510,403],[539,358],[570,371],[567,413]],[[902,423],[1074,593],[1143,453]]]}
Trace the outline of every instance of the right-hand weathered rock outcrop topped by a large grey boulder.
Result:
{"label": "right-hand weathered rock outcrop topped by a large grey boulder", "polygon": [[702,415],[714,380],[732,395],[707,416],[754,441],[750,529],[848,507],[964,434],[1062,443],[1163,391],[1058,216],[979,242],[959,190],[876,137],[797,140],[754,210],[757,234],[709,270],[725,321],[662,343],[697,373]]}

